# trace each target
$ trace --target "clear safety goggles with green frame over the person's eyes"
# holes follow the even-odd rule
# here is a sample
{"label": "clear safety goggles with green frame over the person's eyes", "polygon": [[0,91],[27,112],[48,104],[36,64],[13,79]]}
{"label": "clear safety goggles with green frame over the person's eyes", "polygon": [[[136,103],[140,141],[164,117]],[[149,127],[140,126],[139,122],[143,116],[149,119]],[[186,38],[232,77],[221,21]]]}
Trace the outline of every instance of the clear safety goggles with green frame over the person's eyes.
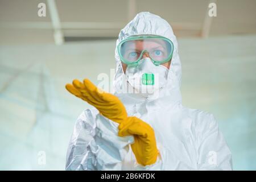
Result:
{"label": "clear safety goggles with green frame over the person's eyes", "polygon": [[121,61],[127,65],[137,65],[143,55],[160,65],[171,60],[174,44],[162,36],[132,36],[122,40],[117,49]]}

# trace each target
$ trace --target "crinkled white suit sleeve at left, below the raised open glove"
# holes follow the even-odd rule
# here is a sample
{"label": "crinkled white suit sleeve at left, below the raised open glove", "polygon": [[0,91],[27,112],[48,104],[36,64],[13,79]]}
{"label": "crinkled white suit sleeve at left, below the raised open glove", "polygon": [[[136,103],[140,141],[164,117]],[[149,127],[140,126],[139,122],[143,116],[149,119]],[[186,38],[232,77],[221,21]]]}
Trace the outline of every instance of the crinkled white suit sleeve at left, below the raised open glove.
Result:
{"label": "crinkled white suit sleeve at left, below the raised open glove", "polygon": [[121,170],[131,137],[118,137],[117,127],[100,114],[85,110],[68,144],[66,170]]}

